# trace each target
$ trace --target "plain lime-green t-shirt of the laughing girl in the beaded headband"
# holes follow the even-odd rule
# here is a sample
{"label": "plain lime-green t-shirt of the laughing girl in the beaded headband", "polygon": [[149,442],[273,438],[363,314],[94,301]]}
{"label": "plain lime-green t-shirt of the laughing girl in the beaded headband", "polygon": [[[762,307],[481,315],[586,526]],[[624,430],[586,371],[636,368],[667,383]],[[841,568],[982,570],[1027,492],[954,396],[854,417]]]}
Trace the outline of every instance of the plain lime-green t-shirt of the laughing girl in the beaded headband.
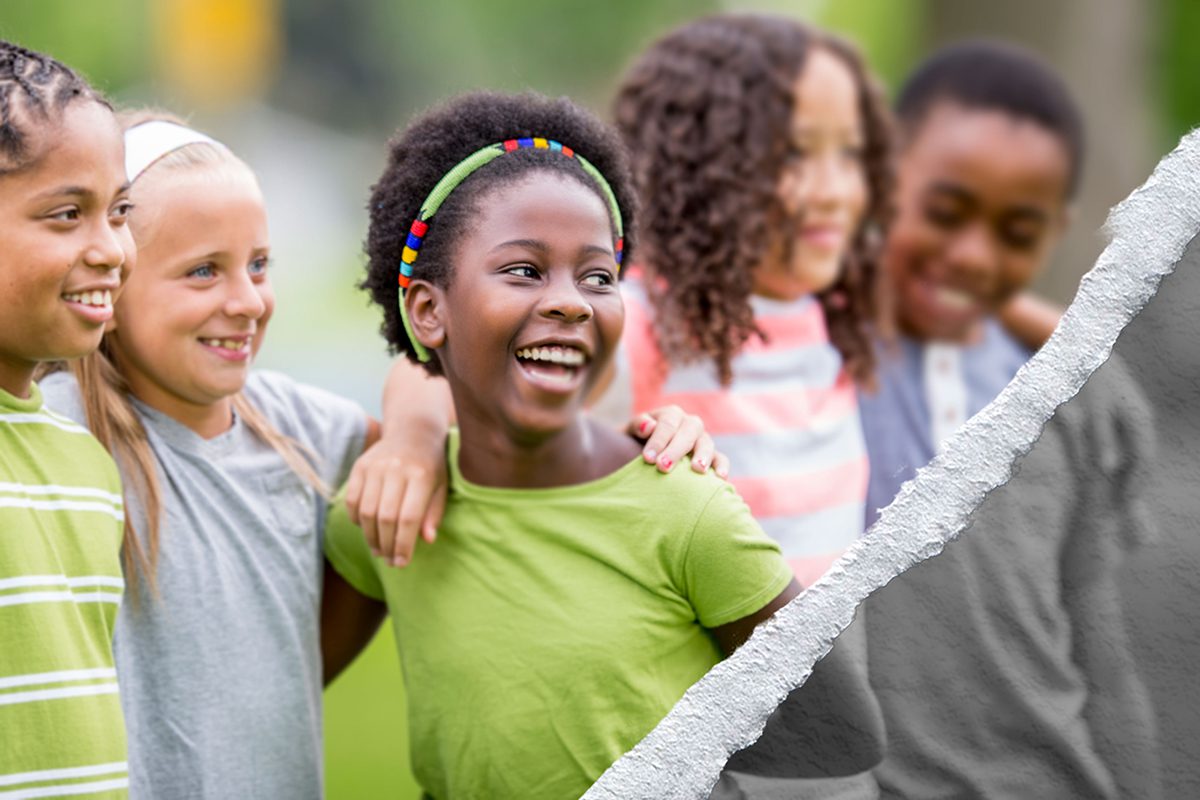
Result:
{"label": "plain lime-green t-shirt of the laughing girl in the beaded headband", "polygon": [[578,798],[721,654],[712,628],[774,600],[791,572],[712,474],[641,458],[588,483],[463,480],[450,441],[438,540],[373,559],[338,503],[326,555],[391,612],[413,769],[439,800]]}

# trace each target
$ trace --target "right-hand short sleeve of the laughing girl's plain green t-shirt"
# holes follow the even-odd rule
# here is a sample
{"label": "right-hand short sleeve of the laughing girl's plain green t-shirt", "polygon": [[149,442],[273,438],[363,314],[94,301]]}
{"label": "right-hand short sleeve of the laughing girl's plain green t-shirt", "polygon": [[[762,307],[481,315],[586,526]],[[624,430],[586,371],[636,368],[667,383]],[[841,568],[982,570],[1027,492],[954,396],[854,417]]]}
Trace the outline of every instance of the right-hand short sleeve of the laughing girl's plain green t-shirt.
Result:
{"label": "right-hand short sleeve of the laughing girl's plain green t-shirt", "polygon": [[683,587],[696,618],[719,627],[761,610],[792,579],[779,545],[749,506],[721,483],[701,511],[683,559]]}

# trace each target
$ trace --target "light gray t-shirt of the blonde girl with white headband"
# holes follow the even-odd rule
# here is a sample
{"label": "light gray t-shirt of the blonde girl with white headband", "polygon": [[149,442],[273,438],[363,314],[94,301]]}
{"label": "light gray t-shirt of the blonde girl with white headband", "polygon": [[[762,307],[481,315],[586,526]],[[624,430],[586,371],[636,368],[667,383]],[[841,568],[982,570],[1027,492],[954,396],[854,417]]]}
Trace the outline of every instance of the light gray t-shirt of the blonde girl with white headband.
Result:
{"label": "light gray t-shirt of the blonde girl with white headband", "polygon": [[[70,375],[41,386],[48,407],[84,422]],[[324,481],[346,480],[362,451],[361,408],[266,372],[252,373],[245,395],[318,455]],[[205,440],[136,408],[158,463],[163,515],[158,597],[130,581],[115,633],[130,793],[320,798],[325,503],[240,419]],[[126,512],[145,536],[136,495]]]}

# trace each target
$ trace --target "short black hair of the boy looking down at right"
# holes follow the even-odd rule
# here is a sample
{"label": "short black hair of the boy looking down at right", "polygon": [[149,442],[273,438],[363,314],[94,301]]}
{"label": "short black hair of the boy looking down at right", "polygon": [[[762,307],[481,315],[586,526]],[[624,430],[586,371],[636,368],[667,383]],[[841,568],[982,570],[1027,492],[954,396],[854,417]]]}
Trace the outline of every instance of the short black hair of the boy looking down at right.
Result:
{"label": "short black hair of the boy looking down at right", "polygon": [[900,90],[896,116],[905,134],[916,137],[930,110],[942,102],[1031,120],[1058,137],[1070,162],[1067,197],[1074,197],[1082,172],[1084,120],[1066,83],[1040,58],[995,40],[942,48]]}

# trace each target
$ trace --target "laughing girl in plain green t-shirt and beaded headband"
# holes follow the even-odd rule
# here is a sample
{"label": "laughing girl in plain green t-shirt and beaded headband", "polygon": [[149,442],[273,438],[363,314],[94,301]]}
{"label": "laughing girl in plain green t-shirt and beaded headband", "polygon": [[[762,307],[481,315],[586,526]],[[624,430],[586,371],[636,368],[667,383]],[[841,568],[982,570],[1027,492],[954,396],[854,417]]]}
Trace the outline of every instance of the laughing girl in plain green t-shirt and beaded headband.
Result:
{"label": "laughing girl in plain green t-shirt and beaded headband", "polygon": [[583,413],[634,206],[614,136],[534,95],[426,114],[371,199],[366,287],[389,343],[450,386],[451,491],[404,570],[344,515],[326,552],[391,612],[439,800],[580,796],[798,591],[727,483],[662,474]]}

